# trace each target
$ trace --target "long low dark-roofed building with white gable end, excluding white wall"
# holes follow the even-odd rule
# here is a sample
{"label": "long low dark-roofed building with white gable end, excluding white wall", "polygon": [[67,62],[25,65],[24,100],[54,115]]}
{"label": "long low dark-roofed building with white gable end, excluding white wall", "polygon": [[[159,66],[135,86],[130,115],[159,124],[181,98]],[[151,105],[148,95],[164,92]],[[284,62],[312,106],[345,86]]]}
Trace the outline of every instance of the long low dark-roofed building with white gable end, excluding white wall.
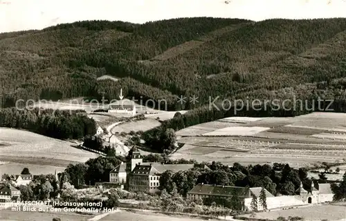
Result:
{"label": "long low dark-roofed building with white gable end, excluding white wall", "polygon": [[[210,185],[210,184],[197,184],[188,192],[188,199],[195,200],[200,198],[202,200],[208,200],[215,202],[219,199],[224,200],[232,200],[233,197],[237,197],[239,203],[242,207],[242,210],[249,211],[251,210],[251,201],[253,200],[253,195],[255,197],[260,197],[260,192],[262,191],[262,187],[240,187],[240,186],[219,186],[219,185]],[[266,189],[264,189],[266,193],[266,198],[274,197],[271,193],[269,193]],[[260,205],[257,205],[257,209],[261,210]]]}

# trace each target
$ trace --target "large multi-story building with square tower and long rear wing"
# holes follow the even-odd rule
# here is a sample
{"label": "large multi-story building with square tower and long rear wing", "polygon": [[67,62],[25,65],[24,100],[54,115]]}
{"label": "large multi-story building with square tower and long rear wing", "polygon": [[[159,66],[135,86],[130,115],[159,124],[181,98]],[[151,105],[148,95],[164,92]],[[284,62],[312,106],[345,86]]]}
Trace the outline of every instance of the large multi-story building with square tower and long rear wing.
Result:
{"label": "large multi-story building with square tower and long rear wing", "polygon": [[143,163],[138,148],[133,147],[127,154],[127,162],[111,170],[109,182],[123,184],[129,191],[155,193],[160,186],[160,176],[166,170],[177,172],[194,168],[194,164],[163,164],[163,163]]}

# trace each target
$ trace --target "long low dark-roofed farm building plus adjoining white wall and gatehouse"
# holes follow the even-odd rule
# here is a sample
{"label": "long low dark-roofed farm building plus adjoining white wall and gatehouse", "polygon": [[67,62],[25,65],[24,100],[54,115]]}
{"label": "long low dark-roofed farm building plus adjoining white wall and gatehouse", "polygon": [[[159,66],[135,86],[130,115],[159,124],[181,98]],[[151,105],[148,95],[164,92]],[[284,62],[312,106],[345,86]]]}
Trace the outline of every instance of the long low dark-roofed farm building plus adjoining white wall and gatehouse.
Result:
{"label": "long low dark-roofed farm building plus adjoining white wall and gatehouse", "polygon": [[[239,186],[215,186],[208,184],[198,184],[194,186],[188,192],[188,198],[190,199],[206,199],[211,198],[216,199],[226,199],[230,200],[233,196],[237,196],[242,202],[242,210],[251,210],[251,201],[253,200],[253,195],[257,197],[257,201],[260,197],[261,187],[246,188]],[[281,195],[274,196],[269,193],[266,189],[266,204],[267,209],[276,209],[284,206],[300,206],[304,204],[320,204],[324,202],[331,202],[333,200],[334,194],[331,192],[330,184],[319,184],[319,189],[317,190],[313,183],[311,184],[311,191],[306,191],[300,184],[300,188],[295,191],[295,195]],[[257,204],[257,210],[263,210],[262,205]]]}

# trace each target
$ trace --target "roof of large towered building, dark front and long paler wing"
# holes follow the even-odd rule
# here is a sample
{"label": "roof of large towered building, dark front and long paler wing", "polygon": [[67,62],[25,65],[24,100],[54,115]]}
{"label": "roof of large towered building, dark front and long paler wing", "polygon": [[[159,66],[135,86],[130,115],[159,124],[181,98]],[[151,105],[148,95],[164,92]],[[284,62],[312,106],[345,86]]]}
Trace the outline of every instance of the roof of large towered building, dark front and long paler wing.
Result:
{"label": "roof of large towered building, dark front and long paler wing", "polygon": [[178,172],[179,170],[189,170],[194,164],[162,164],[162,163],[141,163],[136,165],[132,173],[134,175],[158,175],[166,170]]}

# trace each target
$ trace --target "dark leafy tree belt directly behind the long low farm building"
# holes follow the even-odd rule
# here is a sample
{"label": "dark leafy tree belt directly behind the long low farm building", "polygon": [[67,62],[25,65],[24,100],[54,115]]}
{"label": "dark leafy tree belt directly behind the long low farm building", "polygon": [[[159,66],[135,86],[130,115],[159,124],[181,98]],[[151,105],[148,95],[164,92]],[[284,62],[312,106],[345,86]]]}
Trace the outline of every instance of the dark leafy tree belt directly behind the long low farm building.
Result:
{"label": "dark leafy tree belt directly behind the long low farm building", "polygon": [[206,163],[210,168],[196,167],[181,170],[176,173],[167,170],[160,177],[160,188],[168,192],[176,188],[178,193],[185,196],[196,184],[215,184],[221,186],[263,187],[273,195],[294,195],[302,182],[305,189],[311,189],[311,180],[307,178],[307,170],[294,169],[288,164],[275,163],[255,166],[242,166],[235,163],[232,167],[222,163]]}

